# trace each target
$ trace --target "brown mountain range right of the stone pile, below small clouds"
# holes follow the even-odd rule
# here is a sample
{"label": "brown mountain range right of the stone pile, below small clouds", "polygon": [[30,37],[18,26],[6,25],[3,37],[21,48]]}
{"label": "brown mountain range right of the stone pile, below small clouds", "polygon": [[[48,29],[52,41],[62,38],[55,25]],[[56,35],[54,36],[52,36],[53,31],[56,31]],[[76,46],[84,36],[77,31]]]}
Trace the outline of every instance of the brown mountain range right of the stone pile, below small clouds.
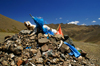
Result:
{"label": "brown mountain range right of the stone pile, below small clouds", "polygon": [[[57,29],[58,24],[49,24],[48,26]],[[100,43],[100,26],[79,26],[74,24],[61,24],[64,34],[69,35],[74,40]]]}

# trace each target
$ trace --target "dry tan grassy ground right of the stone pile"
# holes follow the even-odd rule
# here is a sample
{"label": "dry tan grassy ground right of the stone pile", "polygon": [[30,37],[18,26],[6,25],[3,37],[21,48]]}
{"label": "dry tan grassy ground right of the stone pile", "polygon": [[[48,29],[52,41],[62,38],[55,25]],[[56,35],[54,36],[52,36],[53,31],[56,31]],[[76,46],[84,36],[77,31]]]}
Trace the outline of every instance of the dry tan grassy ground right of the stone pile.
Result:
{"label": "dry tan grassy ground right of the stone pile", "polygon": [[87,54],[87,56],[91,59],[98,60],[97,62],[100,63],[100,45],[94,44],[94,43],[86,43],[86,42],[76,42],[74,41],[75,47],[78,47],[82,50],[84,50]]}

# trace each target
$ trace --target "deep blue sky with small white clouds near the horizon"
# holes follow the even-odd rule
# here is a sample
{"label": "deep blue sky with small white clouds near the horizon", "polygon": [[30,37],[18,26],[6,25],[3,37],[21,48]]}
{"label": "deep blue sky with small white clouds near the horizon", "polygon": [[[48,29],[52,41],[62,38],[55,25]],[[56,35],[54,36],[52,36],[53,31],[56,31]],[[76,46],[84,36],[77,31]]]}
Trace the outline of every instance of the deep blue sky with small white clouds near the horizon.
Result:
{"label": "deep blue sky with small white clouds near the horizon", "polygon": [[33,24],[29,14],[48,24],[100,25],[100,0],[0,0],[0,14]]}

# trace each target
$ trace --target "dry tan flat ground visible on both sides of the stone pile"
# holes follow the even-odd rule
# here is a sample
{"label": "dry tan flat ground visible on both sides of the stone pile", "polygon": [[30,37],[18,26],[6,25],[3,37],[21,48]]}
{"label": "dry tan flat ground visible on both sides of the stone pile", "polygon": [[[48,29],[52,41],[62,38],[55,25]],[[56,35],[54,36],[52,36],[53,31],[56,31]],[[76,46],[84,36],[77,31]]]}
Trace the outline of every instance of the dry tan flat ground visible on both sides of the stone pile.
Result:
{"label": "dry tan flat ground visible on both sides of the stone pile", "polygon": [[[5,33],[0,32],[0,42],[4,41],[4,37],[7,35],[14,35],[14,33]],[[78,47],[85,52],[87,52],[87,57],[91,58],[91,60],[94,60],[97,64],[97,66],[100,66],[100,45],[93,44],[93,43],[86,43],[82,41],[73,41],[75,47]]]}

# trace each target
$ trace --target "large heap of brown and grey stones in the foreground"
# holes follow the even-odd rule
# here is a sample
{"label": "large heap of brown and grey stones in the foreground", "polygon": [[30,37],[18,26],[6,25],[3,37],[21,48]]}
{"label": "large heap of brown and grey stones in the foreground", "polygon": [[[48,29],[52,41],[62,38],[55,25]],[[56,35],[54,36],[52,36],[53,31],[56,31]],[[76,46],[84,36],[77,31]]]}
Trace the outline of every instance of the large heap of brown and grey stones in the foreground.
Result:
{"label": "large heap of brown and grey stones in the foreground", "polygon": [[31,30],[7,36],[0,44],[0,66],[95,66],[83,51],[80,58],[70,56],[63,39]]}

